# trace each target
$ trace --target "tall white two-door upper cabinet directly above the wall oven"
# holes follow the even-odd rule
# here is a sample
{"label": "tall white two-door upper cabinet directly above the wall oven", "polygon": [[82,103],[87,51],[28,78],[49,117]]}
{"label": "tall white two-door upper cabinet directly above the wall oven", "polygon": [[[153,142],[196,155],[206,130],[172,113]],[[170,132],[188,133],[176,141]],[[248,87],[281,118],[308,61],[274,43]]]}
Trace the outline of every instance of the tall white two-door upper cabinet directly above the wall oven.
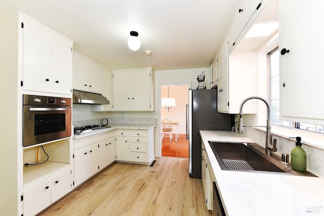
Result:
{"label": "tall white two-door upper cabinet directly above the wall oven", "polygon": [[23,90],[71,94],[72,42],[23,19]]}

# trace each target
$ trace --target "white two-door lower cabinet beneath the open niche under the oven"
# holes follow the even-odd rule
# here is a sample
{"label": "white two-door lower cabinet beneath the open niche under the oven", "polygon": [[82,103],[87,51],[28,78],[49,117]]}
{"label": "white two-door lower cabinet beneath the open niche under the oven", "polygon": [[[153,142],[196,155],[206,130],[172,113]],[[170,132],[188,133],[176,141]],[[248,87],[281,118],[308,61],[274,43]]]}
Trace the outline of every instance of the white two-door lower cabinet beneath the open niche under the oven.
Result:
{"label": "white two-door lower cabinet beneath the open niche under the oven", "polygon": [[65,170],[50,180],[24,191],[24,215],[35,215],[70,192],[71,179],[71,170]]}

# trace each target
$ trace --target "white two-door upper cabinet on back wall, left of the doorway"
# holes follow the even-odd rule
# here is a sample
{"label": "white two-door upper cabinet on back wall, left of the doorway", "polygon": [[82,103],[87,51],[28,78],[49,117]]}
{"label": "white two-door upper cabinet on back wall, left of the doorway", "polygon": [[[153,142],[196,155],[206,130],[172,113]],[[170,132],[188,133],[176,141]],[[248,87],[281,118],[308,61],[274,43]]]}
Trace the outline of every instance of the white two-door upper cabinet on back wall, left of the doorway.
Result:
{"label": "white two-door upper cabinet on back wall, left of the doorway", "polygon": [[151,68],[113,70],[113,110],[153,111]]}

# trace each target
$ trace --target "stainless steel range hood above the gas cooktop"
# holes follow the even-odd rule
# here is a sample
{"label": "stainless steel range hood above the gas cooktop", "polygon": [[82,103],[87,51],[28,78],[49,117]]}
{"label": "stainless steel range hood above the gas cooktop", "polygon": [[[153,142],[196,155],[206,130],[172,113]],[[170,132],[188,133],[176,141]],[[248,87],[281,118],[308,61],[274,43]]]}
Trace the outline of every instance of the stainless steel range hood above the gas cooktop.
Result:
{"label": "stainless steel range hood above the gas cooktop", "polygon": [[110,104],[101,94],[73,90],[73,104]]}

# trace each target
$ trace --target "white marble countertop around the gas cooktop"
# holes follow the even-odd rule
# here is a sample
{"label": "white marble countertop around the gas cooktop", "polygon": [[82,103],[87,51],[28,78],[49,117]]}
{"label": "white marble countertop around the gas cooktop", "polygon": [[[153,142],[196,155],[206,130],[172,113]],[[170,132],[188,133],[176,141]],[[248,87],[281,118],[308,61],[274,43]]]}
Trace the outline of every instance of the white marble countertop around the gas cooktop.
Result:
{"label": "white marble countertop around the gas cooktop", "polygon": [[113,129],[150,129],[155,127],[155,124],[108,124],[109,128],[98,129],[87,134],[73,135],[73,140],[77,140],[84,137],[112,131]]}

